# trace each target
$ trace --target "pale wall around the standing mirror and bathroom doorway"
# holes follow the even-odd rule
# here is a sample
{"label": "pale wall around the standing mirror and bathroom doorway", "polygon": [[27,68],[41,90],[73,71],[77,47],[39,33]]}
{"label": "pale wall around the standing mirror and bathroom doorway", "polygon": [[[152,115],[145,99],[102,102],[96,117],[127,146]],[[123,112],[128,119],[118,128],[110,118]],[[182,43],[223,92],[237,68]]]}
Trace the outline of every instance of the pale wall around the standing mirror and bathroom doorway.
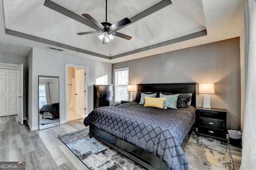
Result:
{"label": "pale wall around the standing mirror and bathroom doorway", "polygon": [[[88,67],[88,113],[93,110],[93,84],[96,78],[108,74],[108,82],[112,81],[112,65],[99,61],[93,61],[82,57],[56,53],[33,48],[32,59],[28,60],[30,78],[29,88],[29,123],[32,130],[38,129],[38,75],[59,76],[60,82],[60,122],[66,120],[66,64]],[[30,67],[32,66],[32,67]],[[30,75],[30,74],[29,74]]]}

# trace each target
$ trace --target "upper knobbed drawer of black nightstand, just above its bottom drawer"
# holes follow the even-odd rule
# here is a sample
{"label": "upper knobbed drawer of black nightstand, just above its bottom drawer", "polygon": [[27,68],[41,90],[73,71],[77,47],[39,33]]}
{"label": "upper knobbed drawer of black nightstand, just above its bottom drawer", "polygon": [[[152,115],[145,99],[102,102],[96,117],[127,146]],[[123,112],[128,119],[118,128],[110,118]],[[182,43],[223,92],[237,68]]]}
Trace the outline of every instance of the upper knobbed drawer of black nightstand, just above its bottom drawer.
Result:
{"label": "upper knobbed drawer of black nightstand, just above its bottom drawer", "polygon": [[200,126],[224,130],[224,120],[200,117],[199,123]]}

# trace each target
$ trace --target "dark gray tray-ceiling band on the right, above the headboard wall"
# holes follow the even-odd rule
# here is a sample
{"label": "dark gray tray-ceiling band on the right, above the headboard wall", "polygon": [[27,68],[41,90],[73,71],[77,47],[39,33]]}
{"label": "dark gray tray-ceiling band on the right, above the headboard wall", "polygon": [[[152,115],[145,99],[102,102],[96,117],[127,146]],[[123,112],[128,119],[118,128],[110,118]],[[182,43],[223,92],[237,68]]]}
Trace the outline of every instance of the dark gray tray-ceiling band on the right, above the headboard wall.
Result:
{"label": "dark gray tray-ceiling band on the right, above the headboard wall", "polygon": [[170,39],[168,41],[164,41],[164,42],[161,42],[161,43],[158,43],[158,44],[149,45],[147,47],[142,47],[140,49],[136,49],[136,50],[133,50],[133,51],[128,51],[126,53],[122,53],[122,54],[119,54],[119,55],[115,55],[115,56],[112,56],[110,58],[110,60],[116,59],[116,58],[119,58],[119,57],[124,57],[124,56],[127,56],[127,55],[132,55],[132,54],[135,54],[135,53],[140,53],[142,51],[147,51],[147,50],[155,49],[155,48],[158,48],[158,47],[178,43],[178,42],[181,42],[181,41],[186,41],[186,40],[189,40],[189,39],[202,37],[202,36],[205,36],[205,35],[207,35],[206,29],[204,29],[202,31],[198,31],[196,33],[185,35],[185,36],[182,36],[182,37]]}

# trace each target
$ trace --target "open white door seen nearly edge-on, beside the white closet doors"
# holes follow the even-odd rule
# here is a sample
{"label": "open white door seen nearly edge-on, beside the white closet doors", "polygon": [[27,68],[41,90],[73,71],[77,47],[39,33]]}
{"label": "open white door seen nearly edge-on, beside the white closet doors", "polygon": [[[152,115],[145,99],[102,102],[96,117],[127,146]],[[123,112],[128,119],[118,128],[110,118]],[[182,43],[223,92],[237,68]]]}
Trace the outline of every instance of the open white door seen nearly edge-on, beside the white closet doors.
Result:
{"label": "open white door seen nearly edge-on, beside the white closet doors", "polygon": [[23,125],[23,63],[18,66],[18,121]]}

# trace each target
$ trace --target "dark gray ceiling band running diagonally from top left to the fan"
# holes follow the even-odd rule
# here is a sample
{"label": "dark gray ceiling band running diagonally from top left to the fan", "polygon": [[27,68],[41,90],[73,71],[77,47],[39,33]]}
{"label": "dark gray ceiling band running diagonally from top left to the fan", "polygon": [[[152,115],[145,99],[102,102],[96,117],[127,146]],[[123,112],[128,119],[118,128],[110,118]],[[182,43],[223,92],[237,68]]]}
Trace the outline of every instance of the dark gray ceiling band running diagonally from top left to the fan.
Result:
{"label": "dark gray ceiling band running diagonally from top left to the fan", "polygon": [[83,23],[83,24],[85,24],[85,25],[87,25],[91,28],[94,28],[94,29],[100,31],[100,28],[97,25],[95,25],[94,23],[92,23],[92,21],[88,21],[85,18],[77,15],[76,13],[74,13],[74,12],[72,12],[72,11],[70,11],[70,10],[68,10],[68,9],[50,1],[50,0],[45,0],[44,1],[44,6],[50,8],[50,9],[56,11],[56,12],[59,12],[60,14],[63,14],[65,16],[69,17],[69,18],[72,18],[72,19],[74,19],[78,22],[81,22],[81,23]]}

